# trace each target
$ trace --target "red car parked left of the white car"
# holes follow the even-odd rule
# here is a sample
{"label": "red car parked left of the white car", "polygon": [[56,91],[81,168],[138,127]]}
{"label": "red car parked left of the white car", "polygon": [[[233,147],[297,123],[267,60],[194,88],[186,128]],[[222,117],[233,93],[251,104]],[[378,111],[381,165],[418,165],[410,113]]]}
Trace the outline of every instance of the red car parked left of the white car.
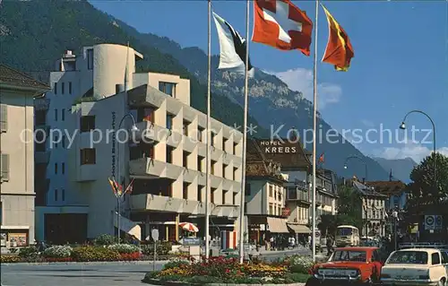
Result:
{"label": "red car parked left of the white car", "polygon": [[314,265],[306,285],[373,285],[380,281],[382,267],[378,247],[335,248],[327,262]]}

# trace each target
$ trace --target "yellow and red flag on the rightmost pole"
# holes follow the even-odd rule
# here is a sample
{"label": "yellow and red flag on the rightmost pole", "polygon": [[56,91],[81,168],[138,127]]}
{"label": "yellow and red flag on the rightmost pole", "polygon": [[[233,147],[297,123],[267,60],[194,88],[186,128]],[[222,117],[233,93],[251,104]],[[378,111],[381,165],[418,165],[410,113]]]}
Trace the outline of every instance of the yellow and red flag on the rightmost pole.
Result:
{"label": "yellow and red flag on the rightmost pole", "polygon": [[328,43],[323,54],[324,63],[334,65],[337,71],[347,72],[350,60],[355,56],[350,39],[340,24],[334,20],[332,14],[322,5],[328,21]]}

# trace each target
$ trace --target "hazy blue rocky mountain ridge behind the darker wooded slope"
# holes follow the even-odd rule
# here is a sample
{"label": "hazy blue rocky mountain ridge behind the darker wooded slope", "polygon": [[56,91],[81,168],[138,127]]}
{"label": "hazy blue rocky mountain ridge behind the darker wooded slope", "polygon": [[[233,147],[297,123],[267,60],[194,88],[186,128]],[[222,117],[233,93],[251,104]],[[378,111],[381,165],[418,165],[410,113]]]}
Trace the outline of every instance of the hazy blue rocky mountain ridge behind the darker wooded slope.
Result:
{"label": "hazy blue rocky mountain ridge behind the darker wooded slope", "polygon": [[[192,106],[205,111],[207,56],[200,48],[182,48],[168,38],[143,34],[118,19],[102,13],[86,1],[7,1],[0,4],[0,57],[5,65],[22,71],[47,75],[56,58],[65,49],[80,51],[82,46],[98,43],[130,45],[142,53],[138,71],[179,74],[191,80]],[[212,117],[229,126],[242,125],[243,78],[217,70],[219,58],[212,57]],[[42,73],[43,72],[43,73]],[[311,150],[312,102],[301,92],[289,90],[279,78],[261,71],[250,80],[249,122],[256,128],[256,137],[270,136],[270,130],[284,126],[279,134],[285,136],[290,127],[296,127]],[[269,115],[269,116],[267,116]],[[332,127],[318,119],[322,134]],[[305,137],[306,135],[306,137]],[[364,163],[350,160],[349,169],[343,169],[347,157],[356,155],[366,162],[369,180],[389,178],[377,161],[364,156],[340,135],[332,136],[339,143],[319,138],[317,152],[325,152],[323,167],[332,169],[340,177],[356,174],[364,177]]]}

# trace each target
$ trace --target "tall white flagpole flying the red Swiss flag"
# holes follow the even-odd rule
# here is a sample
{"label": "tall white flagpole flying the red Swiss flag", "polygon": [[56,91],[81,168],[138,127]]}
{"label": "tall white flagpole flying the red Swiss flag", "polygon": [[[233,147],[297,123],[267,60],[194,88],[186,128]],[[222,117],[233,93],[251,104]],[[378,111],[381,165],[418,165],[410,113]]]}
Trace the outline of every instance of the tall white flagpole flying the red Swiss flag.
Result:
{"label": "tall white flagpole flying the red Swiss flag", "polygon": [[246,143],[247,143],[247,105],[249,95],[249,17],[250,1],[246,1],[246,73],[245,73],[245,114],[243,119],[243,153],[241,163],[241,192],[239,204],[239,262],[245,258],[245,194],[246,194]]}

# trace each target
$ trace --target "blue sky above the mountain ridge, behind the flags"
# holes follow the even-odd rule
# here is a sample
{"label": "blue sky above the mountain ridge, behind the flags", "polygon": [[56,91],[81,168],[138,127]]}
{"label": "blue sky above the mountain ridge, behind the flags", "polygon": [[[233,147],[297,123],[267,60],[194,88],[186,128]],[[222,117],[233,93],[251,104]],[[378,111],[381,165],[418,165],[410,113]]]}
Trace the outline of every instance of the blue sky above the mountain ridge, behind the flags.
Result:
{"label": "blue sky above the mountain ridge, behind the flags", "polygon": [[[315,23],[314,1],[292,2]],[[90,3],[140,32],[168,37],[182,47],[207,50],[207,1]],[[433,149],[429,119],[412,113],[406,120],[407,132],[398,129],[403,117],[418,109],[435,122],[436,148],[448,155],[448,0],[322,3],[346,30],[355,50],[347,73],[321,63],[328,24],[320,7],[317,80],[318,108],[323,118],[366,155],[386,159],[411,157],[419,162]],[[212,9],[246,38],[246,1],[214,0]],[[250,13],[249,39],[253,29],[252,3]],[[211,51],[219,54],[214,23],[211,29]],[[254,42],[249,43],[249,53],[256,68],[276,74],[291,90],[302,91],[312,100],[314,43],[311,56]],[[418,129],[415,135],[411,134],[412,126]],[[356,135],[361,134],[354,131],[358,128],[362,134],[368,134],[368,140],[366,135],[364,139]],[[370,129],[376,131],[368,132]]]}

